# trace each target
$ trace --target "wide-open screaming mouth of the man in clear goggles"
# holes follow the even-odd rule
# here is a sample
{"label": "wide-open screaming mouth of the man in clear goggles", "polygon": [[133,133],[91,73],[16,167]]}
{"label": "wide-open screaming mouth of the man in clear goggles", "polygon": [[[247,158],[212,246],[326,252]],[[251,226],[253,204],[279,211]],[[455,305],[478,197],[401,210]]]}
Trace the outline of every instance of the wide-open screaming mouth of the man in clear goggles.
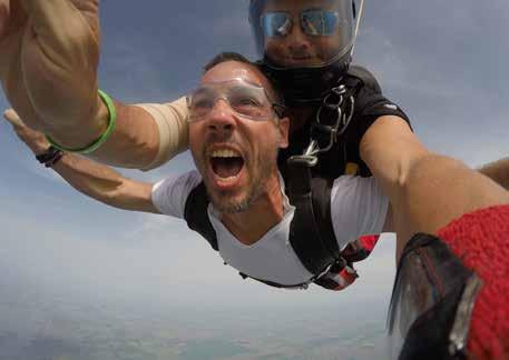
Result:
{"label": "wide-open screaming mouth of the man in clear goggles", "polygon": [[234,182],[244,168],[244,158],[232,149],[214,150],[209,159],[212,171],[221,182]]}

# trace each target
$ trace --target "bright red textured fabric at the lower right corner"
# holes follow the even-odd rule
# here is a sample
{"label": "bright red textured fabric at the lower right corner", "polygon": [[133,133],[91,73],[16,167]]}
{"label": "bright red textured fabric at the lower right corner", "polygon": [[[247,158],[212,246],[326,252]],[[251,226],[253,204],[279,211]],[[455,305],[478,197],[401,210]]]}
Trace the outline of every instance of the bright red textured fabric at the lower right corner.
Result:
{"label": "bright red textured fabric at the lower right corner", "polygon": [[466,214],[438,236],[483,281],[473,309],[469,352],[476,359],[509,359],[509,206]]}

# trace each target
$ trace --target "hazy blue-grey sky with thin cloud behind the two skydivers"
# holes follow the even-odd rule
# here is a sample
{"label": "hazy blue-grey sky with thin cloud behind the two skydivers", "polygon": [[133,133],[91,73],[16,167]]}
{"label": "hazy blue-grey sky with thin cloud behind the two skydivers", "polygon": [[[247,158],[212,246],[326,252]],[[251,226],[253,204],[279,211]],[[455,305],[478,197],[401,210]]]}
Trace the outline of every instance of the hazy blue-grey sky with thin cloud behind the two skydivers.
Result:
{"label": "hazy blue-grey sky with thin cloud behind the two skydivers", "polygon": [[[247,0],[140,3],[101,2],[99,83],[116,99],[173,100],[197,84],[214,54],[257,56]],[[354,62],[373,72],[430,150],[479,167],[508,156],[508,34],[507,0],[366,0]],[[0,93],[0,109],[8,107]],[[0,152],[0,283],[90,301],[310,309],[364,303],[385,313],[394,276],[390,236],[342,293],[275,290],[242,280],[178,220],[110,209],[76,193],[1,121]],[[148,173],[120,171],[155,181],[192,168],[184,153]]]}

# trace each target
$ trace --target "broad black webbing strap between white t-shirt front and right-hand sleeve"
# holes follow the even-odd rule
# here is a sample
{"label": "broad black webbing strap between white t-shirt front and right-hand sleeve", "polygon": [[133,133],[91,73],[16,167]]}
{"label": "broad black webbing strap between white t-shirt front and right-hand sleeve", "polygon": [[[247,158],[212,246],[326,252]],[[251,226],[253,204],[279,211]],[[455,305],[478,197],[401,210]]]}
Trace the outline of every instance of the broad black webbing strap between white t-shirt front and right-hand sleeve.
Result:
{"label": "broad black webbing strap between white t-shirt front and right-hand sleeve", "polygon": [[[332,224],[327,226],[323,221],[316,221],[311,191],[310,164],[298,161],[298,157],[292,157],[288,159],[287,170],[287,194],[290,202],[295,207],[295,213],[290,224],[290,243],[307,271],[316,276],[337,259],[339,251],[334,249],[334,243],[335,248],[337,248],[337,243],[333,237],[334,232],[331,232]],[[324,213],[327,211],[325,210]],[[329,217],[329,219],[331,218]],[[325,228],[329,230],[324,231]],[[333,238],[330,237],[331,233]],[[324,237],[325,234],[327,237]]]}

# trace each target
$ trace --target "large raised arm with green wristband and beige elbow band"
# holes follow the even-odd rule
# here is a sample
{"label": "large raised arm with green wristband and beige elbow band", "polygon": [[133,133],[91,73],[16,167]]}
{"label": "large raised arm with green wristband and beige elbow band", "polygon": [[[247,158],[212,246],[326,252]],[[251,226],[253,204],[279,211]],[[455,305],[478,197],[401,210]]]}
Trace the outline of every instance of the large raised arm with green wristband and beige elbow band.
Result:
{"label": "large raised arm with green wristband and beige elbow band", "polygon": [[[98,96],[99,46],[99,0],[0,0],[0,81],[7,99],[27,126],[65,148],[87,148],[107,129],[108,109]],[[115,102],[117,126],[91,156],[138,169],[168,160],[187,142],[179,103],[168,106],[169,130],[163,133],[154,111]],[[177,139],[173,148],[160,143],[168,133]]]}

